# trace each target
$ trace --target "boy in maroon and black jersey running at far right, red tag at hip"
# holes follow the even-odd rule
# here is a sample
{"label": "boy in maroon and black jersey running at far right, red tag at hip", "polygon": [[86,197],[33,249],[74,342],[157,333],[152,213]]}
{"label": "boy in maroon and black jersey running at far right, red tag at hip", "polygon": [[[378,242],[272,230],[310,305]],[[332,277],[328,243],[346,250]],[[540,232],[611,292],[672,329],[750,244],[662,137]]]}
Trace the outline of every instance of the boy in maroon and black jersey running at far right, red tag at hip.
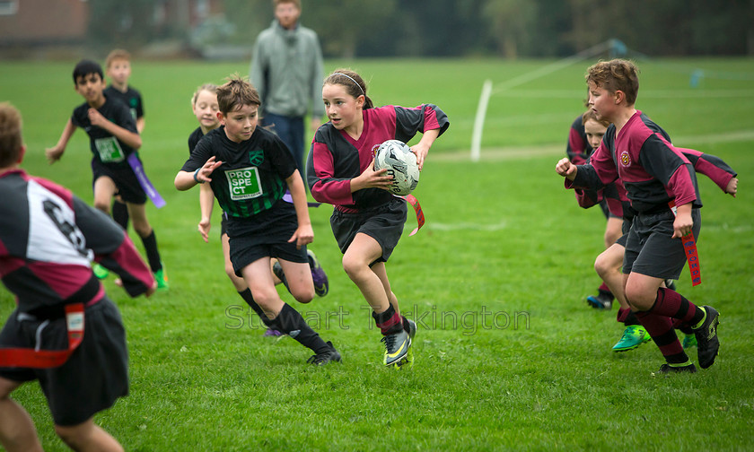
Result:
{"label": "boy in maroon and black jersey running at far right, red tag at hip", "polygon": [[680,239],[699,234],[696,172],[662,128],[635,108],[636,65],[622,59],[597,63],[587,71],[586,83],[589,107],[612,124],[590,163],[577,166],[562,159],[557,173],[566,178],[567,188],[600,188],[622,179],[636,211],[623,261],[626,299],[665,358],[661,373],[697,370],[673,330],[673,319],[692,326],[699,365],[706,369],[720,348],[717,311],[661,287],[666,279],[678,279],[686,264]]}

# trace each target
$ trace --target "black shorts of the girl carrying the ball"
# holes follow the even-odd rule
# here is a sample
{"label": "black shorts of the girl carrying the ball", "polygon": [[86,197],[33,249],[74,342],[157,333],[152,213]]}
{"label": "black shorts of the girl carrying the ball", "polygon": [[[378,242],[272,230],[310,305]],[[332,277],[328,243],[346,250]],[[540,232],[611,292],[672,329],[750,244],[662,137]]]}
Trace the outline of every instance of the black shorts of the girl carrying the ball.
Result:
{"label": "black shorts of the girl carrying the ball", "polygon": [[343,213],[336,209],[330,217],[330,227],[341,253],[346,254],[356,234],[361,232],[377,240],[382,248],[382,256],[375,262],[387,262],[398,245],[407,214],[406,201],[394,197],[390,203],[366,212]]}

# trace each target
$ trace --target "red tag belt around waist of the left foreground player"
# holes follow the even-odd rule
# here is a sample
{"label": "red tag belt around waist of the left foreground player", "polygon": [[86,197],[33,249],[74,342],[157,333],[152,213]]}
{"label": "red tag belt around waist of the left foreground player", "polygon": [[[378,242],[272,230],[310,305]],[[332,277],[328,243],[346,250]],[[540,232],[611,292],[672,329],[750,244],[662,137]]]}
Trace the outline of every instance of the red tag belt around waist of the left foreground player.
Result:
{"label": "red tag belt around waist of the left foreground player", "polygon": [[83,303],[66,305],[67,350],[0,348],[0,367],[49,369],[62,366],[83,340]]}

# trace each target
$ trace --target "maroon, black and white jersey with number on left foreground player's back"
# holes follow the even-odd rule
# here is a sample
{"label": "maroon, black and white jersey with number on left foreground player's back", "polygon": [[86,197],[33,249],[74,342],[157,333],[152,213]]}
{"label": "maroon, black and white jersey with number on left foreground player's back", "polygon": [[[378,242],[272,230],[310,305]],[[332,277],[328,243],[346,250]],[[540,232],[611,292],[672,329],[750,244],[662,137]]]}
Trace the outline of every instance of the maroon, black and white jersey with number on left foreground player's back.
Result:
{"label": "maroon, black and white jersey with number on left foreground player's back", "polygon": [[92,259],[117,273],[131,296],[152,287],[126,232],[66,188],[11,170],[0,175],[0,197],[0,278],[19,311],[101,299]]}

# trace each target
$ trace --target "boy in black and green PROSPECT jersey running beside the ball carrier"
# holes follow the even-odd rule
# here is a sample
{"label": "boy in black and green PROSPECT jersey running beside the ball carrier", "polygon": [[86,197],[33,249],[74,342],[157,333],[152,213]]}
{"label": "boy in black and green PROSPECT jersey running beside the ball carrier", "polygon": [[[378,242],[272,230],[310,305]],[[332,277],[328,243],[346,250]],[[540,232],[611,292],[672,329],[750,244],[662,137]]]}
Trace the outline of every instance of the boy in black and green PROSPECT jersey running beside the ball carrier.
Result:
{"label": "boy in black and green PROSPECT jersey running beside the ball carrier", "polygon": [[[227,215],[230,257],[235,273],[249,285],[246,300],[262,322],[290,335],[315,354],[316,365],[340,361],[298,311],[280,299],[270,273],[277,257],[296,300],[314,298],[306,245],[314,239],[306,191],[293,156],[277,135],[258,127],[259,93],[238,77],[217,89],[222,126],[207,133],[175,178],[188,190],[208,182]],[[285,201],[285,189],[293,204]]]}

